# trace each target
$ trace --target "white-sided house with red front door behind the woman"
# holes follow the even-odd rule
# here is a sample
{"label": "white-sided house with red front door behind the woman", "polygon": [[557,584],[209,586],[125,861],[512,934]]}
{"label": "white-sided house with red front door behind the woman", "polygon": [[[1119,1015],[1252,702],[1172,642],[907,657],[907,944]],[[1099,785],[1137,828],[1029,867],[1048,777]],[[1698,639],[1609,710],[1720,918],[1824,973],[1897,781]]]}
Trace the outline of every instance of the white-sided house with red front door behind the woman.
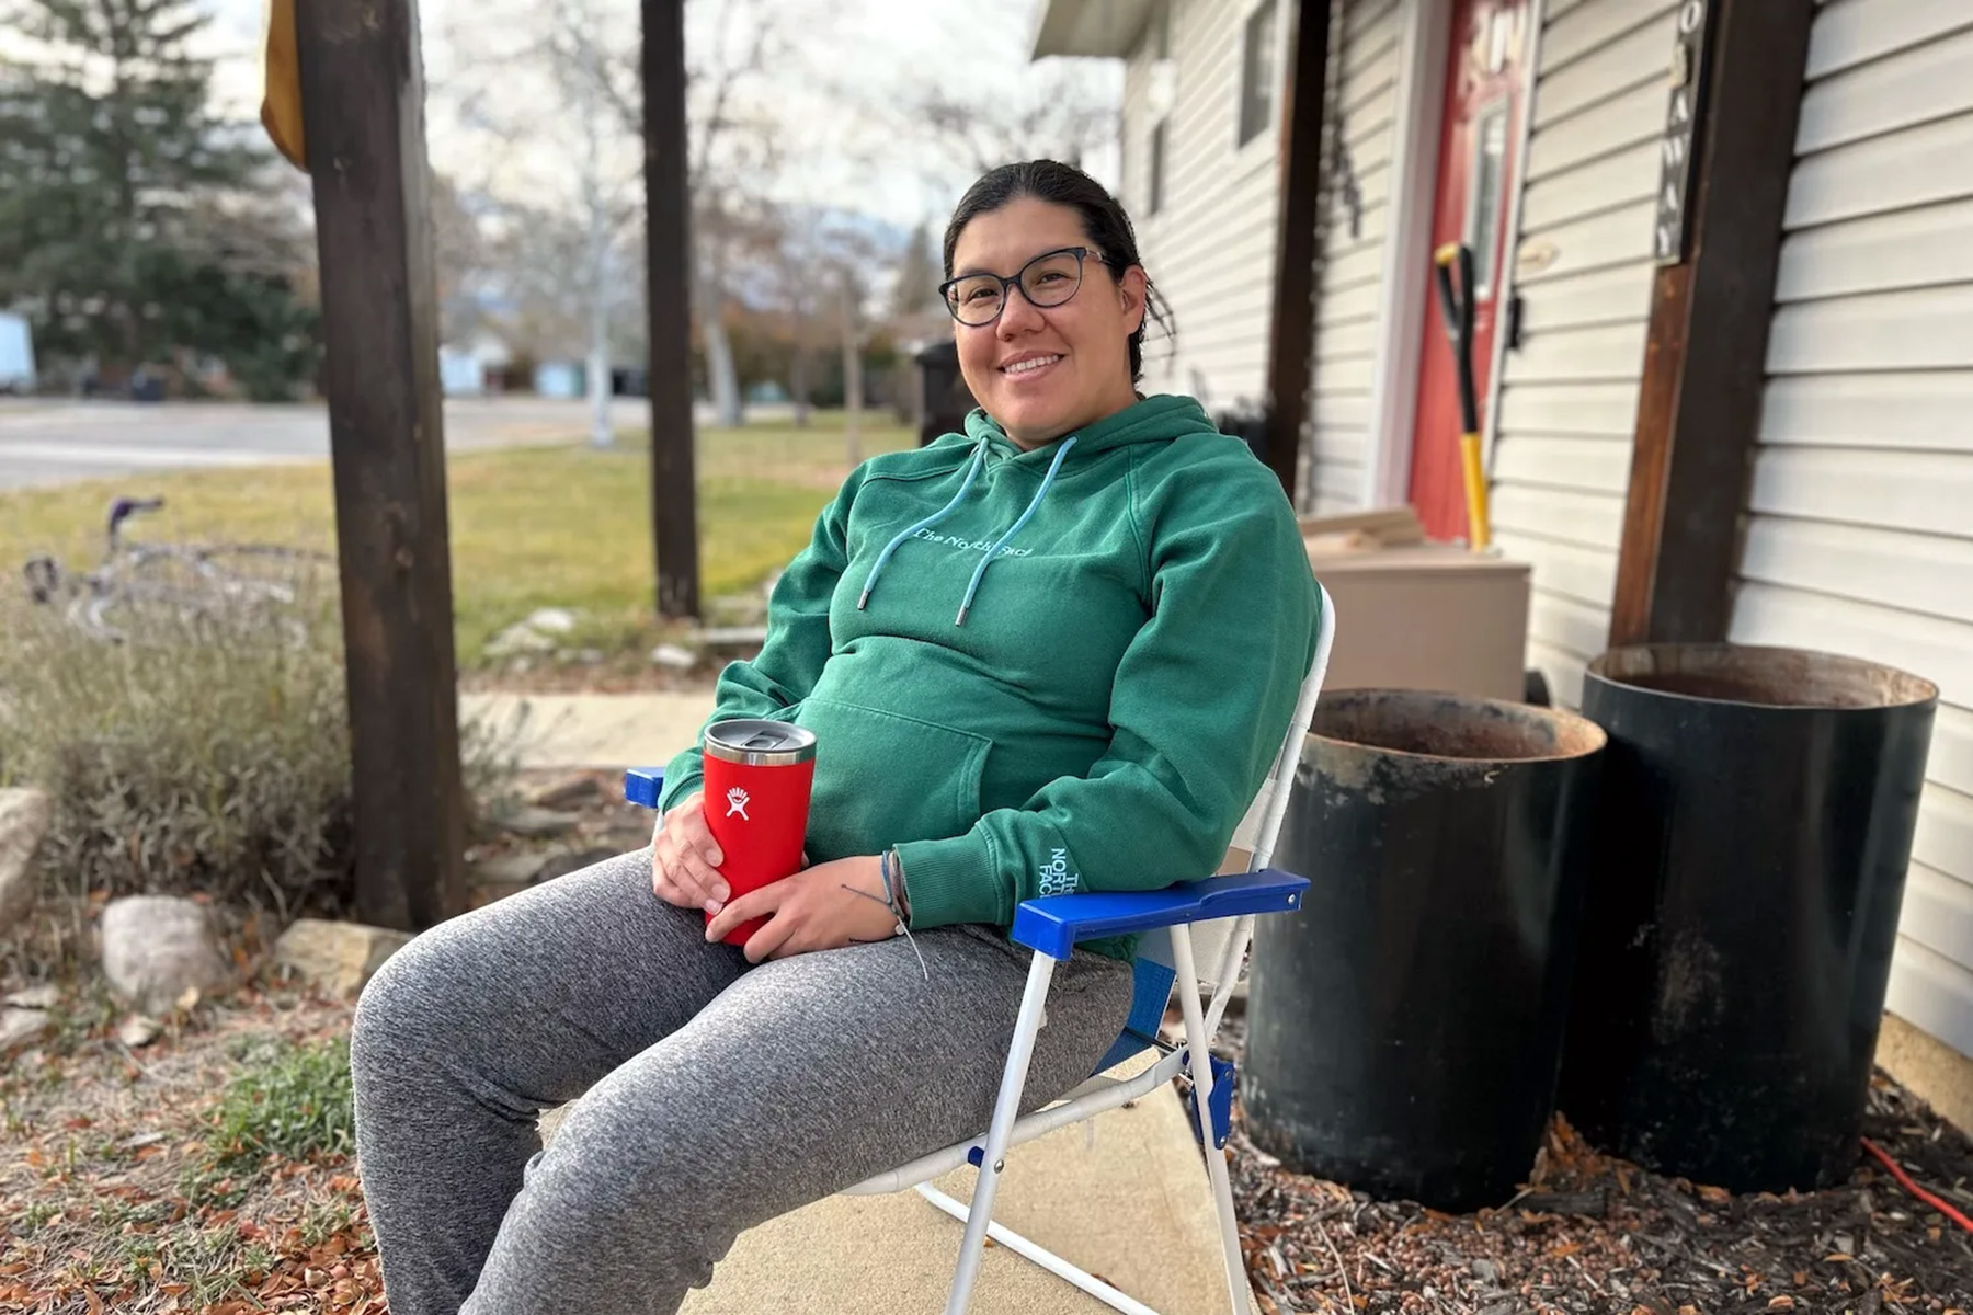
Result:
{"label": "white-sided house with red front door behind the woman", "polygon": [[[1746,345],[1711,349],[1748,353],[1762,375],[1744,422],[1709,432],[1667,418],[1663,398],[1640,402],[1659,272],[1693,258],[1679,225],[1695,193],[1671,168],[1705,140],[1677,122],[1675,75],[1699,49],[1683,24],[1703,37],[1718,0],[1328,6],[1298,501],[1409,501],[1434,534],[1466,532],[1430,282],[1432,250],[1466,242],[1484,284],[1494,536],[1533,568],[1527,655],[1561,702],[1578,700],[1614,617],[1626,639],[1661,637],[1659,621],[1626,611],[1640,595],[1622,586],[1669,588],[1659,542],[1705,542],[1717,558],[1713,578],[1675,582],[1717,597],[1713,637],[1859,655],[1939,684],[1890,1007],[1973,1057],[1973,4],[1788,4],[1805,8],[1740,6],[1813,26],[1801,81],[1776,71],[1803,87],[1793,140],[1720,183],[1744,195],[1786,177],[1786,205],[1766,231],[1734,235],[1778,274],[1772,302],[1748,311]],[[1174,367],[1150,382],[1213,406],[1267,402],[1279,215],[1292,201],[1279,181],[1280,89],[1288,45],[1320,39],[1286,8],[1038,6],[1036,57],[1125,61],[1123,197],[1180,325]],[[1736,126],[1748,118],[1758,106]],[[1671,398],[1697,414],[1695,398]],[[1661,487],[1632,489],[1634,463],[1655,469],[1667,432],[1687,451],[1734,453],[1709,481],[1663,493],[1703,517],[1663,520]],[[1642,597],[1649,617],[1663,611]]]}

